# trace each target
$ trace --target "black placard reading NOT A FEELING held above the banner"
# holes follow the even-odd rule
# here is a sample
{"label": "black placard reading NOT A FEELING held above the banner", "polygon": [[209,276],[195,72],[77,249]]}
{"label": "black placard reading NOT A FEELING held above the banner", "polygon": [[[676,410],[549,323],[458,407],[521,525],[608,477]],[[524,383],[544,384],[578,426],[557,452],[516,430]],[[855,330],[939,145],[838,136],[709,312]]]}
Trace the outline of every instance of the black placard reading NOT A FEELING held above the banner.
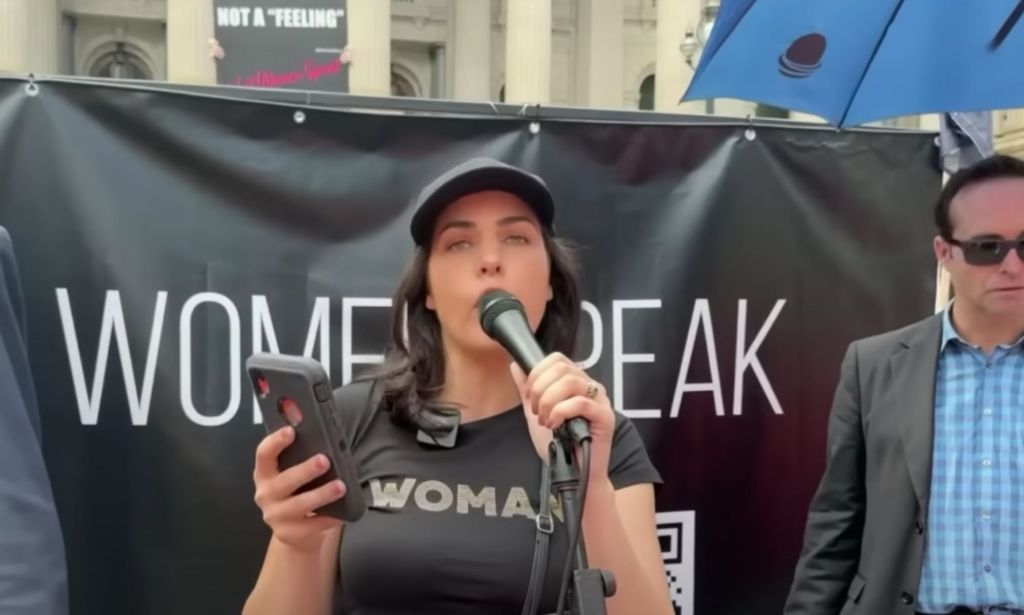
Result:
{"label": "black placard reading NOT A FEELING held above the banner", "polygon": [[346,0],[214,0],[217,83],[348,91]]}

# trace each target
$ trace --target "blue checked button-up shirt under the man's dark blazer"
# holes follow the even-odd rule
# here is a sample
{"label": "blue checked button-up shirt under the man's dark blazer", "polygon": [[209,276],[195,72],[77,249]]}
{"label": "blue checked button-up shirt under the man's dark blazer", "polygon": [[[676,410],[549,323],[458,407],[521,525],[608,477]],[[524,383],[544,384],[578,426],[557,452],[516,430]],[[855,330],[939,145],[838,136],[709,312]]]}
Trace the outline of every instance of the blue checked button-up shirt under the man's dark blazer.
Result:
{"label": "blue checked button-up shirt under the man's dark blazer", "polygon": [[991,356],[946,308],[918,608],[1024,614],[1024,338]]}

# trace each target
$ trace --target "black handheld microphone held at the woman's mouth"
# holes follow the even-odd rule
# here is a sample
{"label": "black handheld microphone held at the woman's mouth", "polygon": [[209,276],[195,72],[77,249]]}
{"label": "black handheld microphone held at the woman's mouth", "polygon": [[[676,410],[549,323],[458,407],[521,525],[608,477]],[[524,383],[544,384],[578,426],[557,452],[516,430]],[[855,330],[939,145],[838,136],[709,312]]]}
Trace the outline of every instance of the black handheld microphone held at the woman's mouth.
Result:
{"label": "black handheld microphone held at the woman's mouth", "polygon": [[[506,291],[489,291],[478,303],[483,333],[502,345],[527,375],[546,356],[537,343],[526,320],[526,310],[514,295]],[[575,416],[565,423],[568,435],[575,442],[590,439],[590,424]]]}

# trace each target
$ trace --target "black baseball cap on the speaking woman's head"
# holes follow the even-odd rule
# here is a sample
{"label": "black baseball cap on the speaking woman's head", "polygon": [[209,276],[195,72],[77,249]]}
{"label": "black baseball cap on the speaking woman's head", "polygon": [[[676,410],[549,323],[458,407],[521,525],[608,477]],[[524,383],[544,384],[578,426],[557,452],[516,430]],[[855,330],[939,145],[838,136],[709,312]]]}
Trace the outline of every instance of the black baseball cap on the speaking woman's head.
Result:
{"label": "black baseball cap on the speaking woman's head", "polygon": [[474,158],[449,170],[420,192],[410,223],[416,245],[430,243],[434,222],[445,207],[467,194],[485,190],[501,190],[522,199],[541,225],[554,232],[555,202],[543,179],[489,158]]}

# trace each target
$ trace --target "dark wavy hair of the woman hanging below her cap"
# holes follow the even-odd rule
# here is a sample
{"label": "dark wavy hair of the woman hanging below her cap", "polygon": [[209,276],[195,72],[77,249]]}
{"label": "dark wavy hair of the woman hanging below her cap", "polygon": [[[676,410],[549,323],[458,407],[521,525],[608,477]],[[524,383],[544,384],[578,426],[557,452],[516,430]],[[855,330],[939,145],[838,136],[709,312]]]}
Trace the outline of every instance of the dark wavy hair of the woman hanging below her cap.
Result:
{"label": "dark wavy hair of the woman hanging below her cap", "polygon": [[[577,249],[543,231],[551,263],[552,299],[537,331],[545,352],[572,356],[581,317],[581,270]],[[444,348],[437,315],[427,308],[430,247],[417,247],[392,296],[391,343],[384,364],[374,370],[377,395],[397,423],[429,429],[432,411],[451,410],[437,403],[444,386]],[[403,312],[408,310],[409,342]]]}

